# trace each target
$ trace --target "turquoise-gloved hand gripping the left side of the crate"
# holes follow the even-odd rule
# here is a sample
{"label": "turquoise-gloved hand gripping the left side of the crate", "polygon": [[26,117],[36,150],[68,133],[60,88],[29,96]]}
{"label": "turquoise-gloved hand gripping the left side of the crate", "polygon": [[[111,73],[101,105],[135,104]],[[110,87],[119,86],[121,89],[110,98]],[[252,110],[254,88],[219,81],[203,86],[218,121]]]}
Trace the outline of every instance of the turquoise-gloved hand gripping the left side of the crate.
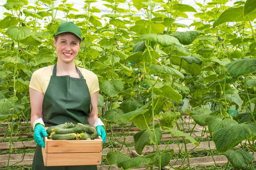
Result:
{"label": "turquoise-gloved hand gripping the left side of the crate", "polygon": [[43,137],[47,137],[46,129],[42,124],[36,124],[34,129],[34,140],[38,145],[45,147]]}

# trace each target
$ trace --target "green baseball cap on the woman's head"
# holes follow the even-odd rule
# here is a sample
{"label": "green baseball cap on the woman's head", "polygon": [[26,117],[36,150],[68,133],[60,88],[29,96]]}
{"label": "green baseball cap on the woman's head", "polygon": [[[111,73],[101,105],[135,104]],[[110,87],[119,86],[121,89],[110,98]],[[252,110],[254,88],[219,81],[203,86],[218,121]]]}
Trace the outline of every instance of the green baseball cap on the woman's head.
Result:
{"label": "green baseball cap on the woman's head", "polygon": [[79,37],[79,39],[82,41],[81,29],[79,27],[77,27],[76,24],[74,24],[72,22],[61,23],[54,36],[59,35],[60,33],[64,33],[64,32],[71,32],[71,33],[75,34],[77,37]]}

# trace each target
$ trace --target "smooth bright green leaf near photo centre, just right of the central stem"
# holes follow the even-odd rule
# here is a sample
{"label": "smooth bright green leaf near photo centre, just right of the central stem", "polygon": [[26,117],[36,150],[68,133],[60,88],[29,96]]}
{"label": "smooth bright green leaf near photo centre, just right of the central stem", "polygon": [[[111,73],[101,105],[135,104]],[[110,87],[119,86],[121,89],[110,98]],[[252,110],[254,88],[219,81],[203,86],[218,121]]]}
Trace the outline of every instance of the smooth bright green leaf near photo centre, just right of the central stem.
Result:
{"label": "smooth bright green leaf near photo centre, just right of the central stem", "polygon": [[163,86],[159,89],[154,89],[156,95],[160,95],[168,99],[175,100],[177,102],[179,102],[182,99],[182,96],[178,92],[176,92],[171,86]]}

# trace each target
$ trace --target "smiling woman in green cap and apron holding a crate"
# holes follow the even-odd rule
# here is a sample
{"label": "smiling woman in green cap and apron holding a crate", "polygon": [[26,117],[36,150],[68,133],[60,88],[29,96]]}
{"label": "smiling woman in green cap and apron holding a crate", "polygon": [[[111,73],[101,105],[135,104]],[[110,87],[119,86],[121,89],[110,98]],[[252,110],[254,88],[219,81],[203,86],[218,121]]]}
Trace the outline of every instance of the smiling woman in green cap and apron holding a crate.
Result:
{"label": "smiling woman in green cap and apron holding a crate", "polygon": [[74,62],[81,41],[81,30],[76,24],[60,24],[54,38],[56,65],[36,70],[31,77],[31,125],[38,144],[32,163],[34,170],[97,169],[97,165],[45,167],[42,157],[42,137],[47,137],[44,126],[65,122],[90,124],[106,140],[104,124],[98,118],[98,78],[92,71],[76,67]]}

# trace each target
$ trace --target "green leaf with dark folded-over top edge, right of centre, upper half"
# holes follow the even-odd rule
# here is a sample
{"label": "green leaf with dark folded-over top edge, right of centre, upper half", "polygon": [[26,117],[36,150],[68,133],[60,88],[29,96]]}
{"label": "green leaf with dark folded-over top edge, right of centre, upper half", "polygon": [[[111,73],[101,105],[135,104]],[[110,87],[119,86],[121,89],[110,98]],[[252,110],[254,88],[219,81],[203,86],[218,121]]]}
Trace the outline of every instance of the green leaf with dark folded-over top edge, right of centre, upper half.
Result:
{"label": "green leaf with dark folded-over top edge, right of centre, upper half", "polygon": [[201,73],[202,59],[191,56],[172,56],[172,64],[180,66],[193,75],[199,75]]}

